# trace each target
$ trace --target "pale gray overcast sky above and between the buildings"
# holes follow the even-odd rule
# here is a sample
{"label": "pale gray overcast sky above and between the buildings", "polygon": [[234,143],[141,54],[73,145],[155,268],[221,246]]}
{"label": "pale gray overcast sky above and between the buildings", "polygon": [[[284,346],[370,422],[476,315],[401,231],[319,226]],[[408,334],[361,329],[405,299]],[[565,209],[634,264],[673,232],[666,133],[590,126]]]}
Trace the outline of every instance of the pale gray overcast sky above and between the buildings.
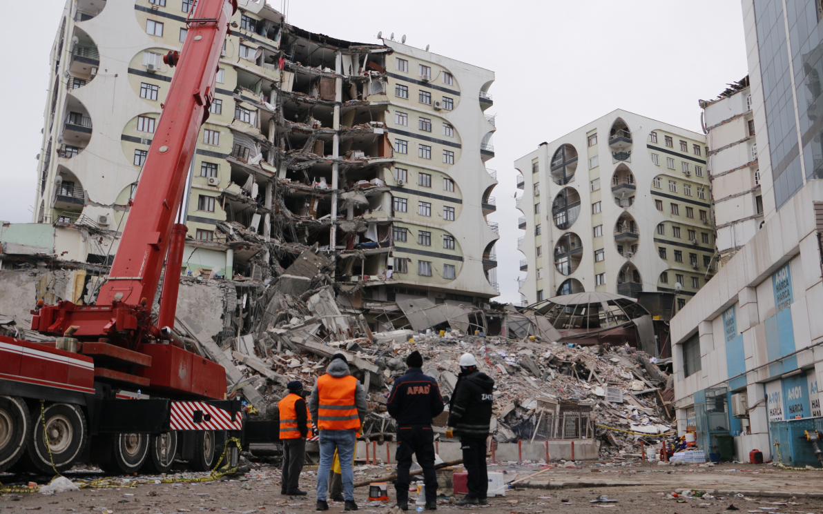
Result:
{"label": "pale gray overcast sky above and between the buildings", "polygon": [[[109,0],[126,2],[129,0]],[[32,2],[3,2],[7,20],[30,19]],[[49,51],[63,0],[38,0],[40,39],[26,23],[0,32],[7,75],[0,82],[5,123],[0,141],[0,220],[31,220],[40,129],[49,80]],[[269,2],[281,10],[281,0]],[[513,162],[614,109],[626,109],[700,132],[697,100],[717,96],[746,76],[739,0],[416,0],[291,2],[288,21],[339,39],[376,43],[407,35],[407,44],[491,69],[497,114],[497,244],[500,301],[518,302],[519,211]],[[25,43],[24,43],[25,41]]]}

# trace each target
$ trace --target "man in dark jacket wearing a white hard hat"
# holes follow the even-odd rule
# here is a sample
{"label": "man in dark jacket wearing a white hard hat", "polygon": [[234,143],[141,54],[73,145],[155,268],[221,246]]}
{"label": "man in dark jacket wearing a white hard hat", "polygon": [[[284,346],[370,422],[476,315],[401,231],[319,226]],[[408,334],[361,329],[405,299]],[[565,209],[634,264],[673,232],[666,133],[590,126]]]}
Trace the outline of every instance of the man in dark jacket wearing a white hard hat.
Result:
{"label": "man in dark jacket wearing a white hard hat", "polygon": [[486,505],[489,476],[486,473],[486,438],[491,423],[492,389],[495,381],[477,370],[472,354],[460,357],[460,374],[449,402],[446,437],[457,435],[463,450],[468,494],[455,505]]}

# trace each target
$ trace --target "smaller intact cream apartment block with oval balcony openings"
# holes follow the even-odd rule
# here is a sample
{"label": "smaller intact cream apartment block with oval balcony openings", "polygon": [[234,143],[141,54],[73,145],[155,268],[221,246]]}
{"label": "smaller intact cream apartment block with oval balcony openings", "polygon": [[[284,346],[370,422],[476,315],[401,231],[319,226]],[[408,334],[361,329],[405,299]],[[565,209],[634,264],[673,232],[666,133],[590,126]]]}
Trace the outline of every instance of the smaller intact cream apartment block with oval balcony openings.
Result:
{"label": "smaller intact cream apartment block with oval balcony openings", "polygon": [[682,307],[711,278],[704,136],[618,109],[514,167],[524,301],[667,291]]}

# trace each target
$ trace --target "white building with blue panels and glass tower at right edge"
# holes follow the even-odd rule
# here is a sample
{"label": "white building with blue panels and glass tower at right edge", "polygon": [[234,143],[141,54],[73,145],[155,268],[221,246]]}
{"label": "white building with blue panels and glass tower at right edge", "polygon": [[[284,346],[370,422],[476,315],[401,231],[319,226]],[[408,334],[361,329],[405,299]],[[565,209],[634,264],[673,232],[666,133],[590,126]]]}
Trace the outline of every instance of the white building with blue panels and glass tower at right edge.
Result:
{"label": "white building with blue panels and glass tower at right edge", "polygon": [[[819,465],[802,439],[823,414],[819,6],[742,0],[764,218],[671,322],[678,428],[695,427],[709,451],[733,442],[729,456],[740,461],[756,448],[784,464]],[[753,194],[752,185],[743,174],[739,192]]]}

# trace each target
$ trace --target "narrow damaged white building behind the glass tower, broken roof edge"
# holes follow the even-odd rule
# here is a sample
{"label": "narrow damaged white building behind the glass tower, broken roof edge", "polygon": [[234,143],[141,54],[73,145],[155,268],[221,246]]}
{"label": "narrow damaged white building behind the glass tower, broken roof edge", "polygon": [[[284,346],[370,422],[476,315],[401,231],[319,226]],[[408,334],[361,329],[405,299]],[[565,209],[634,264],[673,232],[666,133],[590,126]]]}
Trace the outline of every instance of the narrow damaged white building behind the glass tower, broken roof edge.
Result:
{"label": "narrow damaged white building behind the glass tower, broken roof edge", "polygon": [[718,258],[723,266],[763,222],[749,77],[732,84],[716,100],[700,100],[700,107],[709,145]]}

